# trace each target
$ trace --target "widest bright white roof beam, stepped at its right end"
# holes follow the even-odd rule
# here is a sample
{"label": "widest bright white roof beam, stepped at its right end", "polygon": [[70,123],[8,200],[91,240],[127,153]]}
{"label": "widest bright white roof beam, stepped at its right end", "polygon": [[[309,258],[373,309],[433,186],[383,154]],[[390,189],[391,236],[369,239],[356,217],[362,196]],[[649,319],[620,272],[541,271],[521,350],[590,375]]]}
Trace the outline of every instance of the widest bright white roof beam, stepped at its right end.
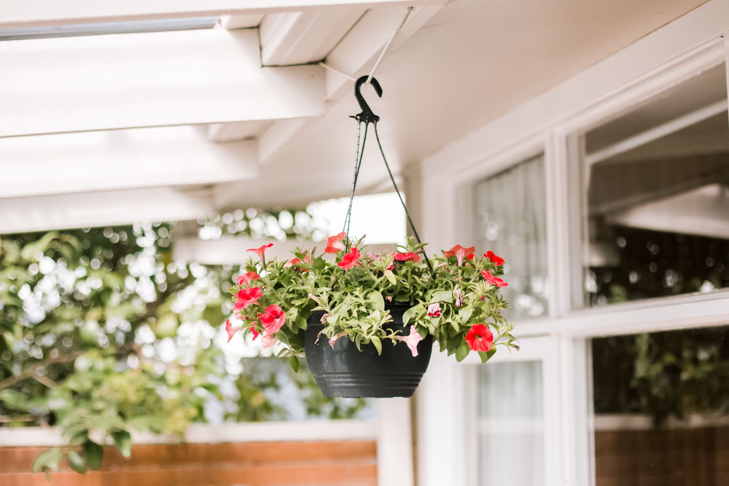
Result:
{"label": "widest bright white roof beam, stepped at its right end", "polygon": [[0,42],[0,66],[0,136],[324,112],[324,68],[262,68],[255,29]]}

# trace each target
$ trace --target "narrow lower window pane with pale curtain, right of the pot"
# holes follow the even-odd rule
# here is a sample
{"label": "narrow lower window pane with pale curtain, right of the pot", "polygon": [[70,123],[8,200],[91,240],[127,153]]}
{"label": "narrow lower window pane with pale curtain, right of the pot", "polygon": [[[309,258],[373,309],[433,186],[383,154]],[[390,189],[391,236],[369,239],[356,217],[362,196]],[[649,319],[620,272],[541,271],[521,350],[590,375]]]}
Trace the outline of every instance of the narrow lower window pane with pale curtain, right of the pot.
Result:
{"label": "narrow lower window pane with pale curtain, right of the pot", "polygon": [[542,362],[479,367],[478,382],[478,484],[544,485]]}

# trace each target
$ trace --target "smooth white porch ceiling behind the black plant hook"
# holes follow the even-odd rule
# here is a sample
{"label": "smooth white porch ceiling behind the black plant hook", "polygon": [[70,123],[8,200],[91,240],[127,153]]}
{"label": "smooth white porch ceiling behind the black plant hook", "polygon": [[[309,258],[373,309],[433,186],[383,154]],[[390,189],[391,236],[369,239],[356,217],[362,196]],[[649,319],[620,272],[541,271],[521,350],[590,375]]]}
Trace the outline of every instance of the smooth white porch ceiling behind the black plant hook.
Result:
{"label": "smooth white porch ceiling behind the black plant hook", "polygon": [[[451,2],[388,52],[376,76],[383,98],[365,88],[382,117],[391,165],[401,171],[704,1]],[[262,167],[259,179],[223,184],[217,203],[292,205],[346,195],[356,138],[348,115],[358,111],[354,96],[328,106]],[[374,138],[368,146],[359,187],[381,188],[386,173]]]}

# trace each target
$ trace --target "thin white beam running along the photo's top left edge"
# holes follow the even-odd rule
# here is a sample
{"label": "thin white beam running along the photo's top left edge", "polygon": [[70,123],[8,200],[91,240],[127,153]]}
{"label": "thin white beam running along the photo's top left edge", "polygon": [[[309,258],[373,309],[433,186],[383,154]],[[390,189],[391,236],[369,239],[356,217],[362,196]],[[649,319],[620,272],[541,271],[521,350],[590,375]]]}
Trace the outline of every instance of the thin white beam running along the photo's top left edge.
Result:
{"label": "thin white beam running along the photo's top left edge", "polygon": [[[433,0],[23,0],[5,2],[0,28],[103,23],[214,15],[254,15],[322,7],[370,8],[432,4]],[[442,3],[442,2],[440,2]]]}

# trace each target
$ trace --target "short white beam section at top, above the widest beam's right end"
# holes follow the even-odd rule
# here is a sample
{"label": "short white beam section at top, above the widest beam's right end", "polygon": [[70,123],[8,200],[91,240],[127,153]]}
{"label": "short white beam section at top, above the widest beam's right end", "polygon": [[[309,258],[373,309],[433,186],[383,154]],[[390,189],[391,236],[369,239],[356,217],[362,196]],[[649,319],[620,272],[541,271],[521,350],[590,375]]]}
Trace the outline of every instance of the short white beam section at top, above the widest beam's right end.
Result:
{"label": "short white beam section at top, above the widest beam's right end", "polygon": [[324,59],[354,26],[364,9],[323,9],[266,15],[260,25],[264,66]]}

